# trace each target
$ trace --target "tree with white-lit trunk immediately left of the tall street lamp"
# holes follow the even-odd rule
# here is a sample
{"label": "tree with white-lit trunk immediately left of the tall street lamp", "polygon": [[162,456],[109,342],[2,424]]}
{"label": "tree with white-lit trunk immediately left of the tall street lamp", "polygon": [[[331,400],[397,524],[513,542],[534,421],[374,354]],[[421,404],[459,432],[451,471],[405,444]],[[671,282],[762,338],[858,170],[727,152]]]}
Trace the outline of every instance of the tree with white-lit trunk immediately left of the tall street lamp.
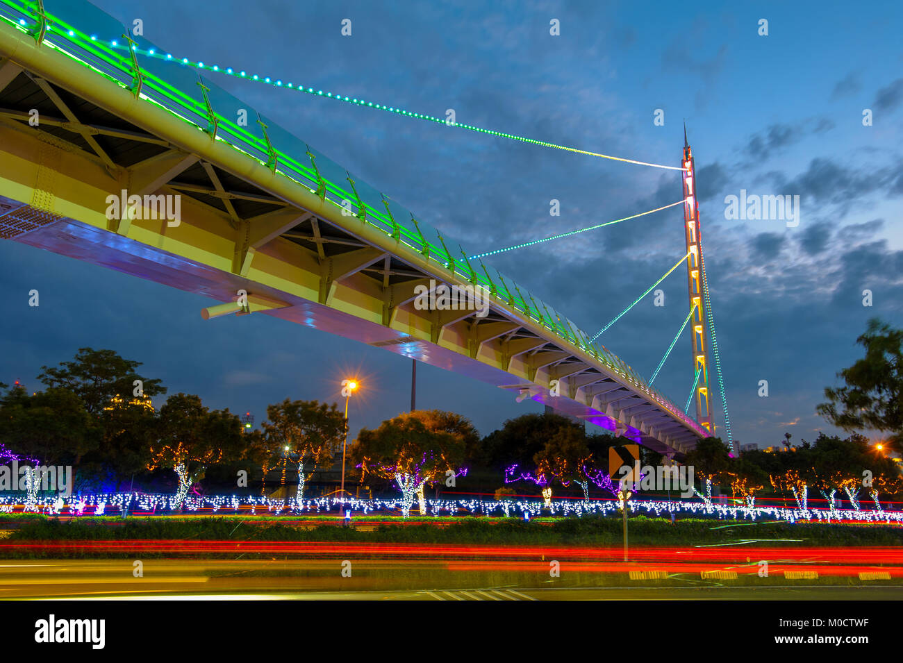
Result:
{"label": "tree with white-lit trunk immediately left of the tall street lamp", "polygon": [[328,406],[319,401],[291,401],[266,408],[263,424],[265,445],[264,473],[276,458],[287,455],[298,467],[298,494],[301,502],[304,483],[318,465],[332,460],[332,449],[339,445],[345,435],[345,415],[336,409],[336,404]]}

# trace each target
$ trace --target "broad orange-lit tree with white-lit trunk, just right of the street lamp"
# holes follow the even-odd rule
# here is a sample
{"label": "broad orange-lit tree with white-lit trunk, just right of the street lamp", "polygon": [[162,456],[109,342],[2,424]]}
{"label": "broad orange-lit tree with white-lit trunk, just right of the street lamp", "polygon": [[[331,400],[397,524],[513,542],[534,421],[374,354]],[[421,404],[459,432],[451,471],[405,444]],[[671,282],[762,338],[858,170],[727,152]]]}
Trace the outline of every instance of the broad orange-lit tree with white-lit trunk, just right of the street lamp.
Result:
{"label": "broad orange-lit tree with white-lit trunk, just right of the street lamp", "polygon": [[361,428],[351,447],[352,462],[361,478],[368,474],[394,479],[402,493],[402,516],[407,518],[414,496],[423,495],[424,485],[444,476],[464,474],[461,467],[467,451],[466,437],[431,428],[433,414],[408,412],[388,419],[376,430]]}

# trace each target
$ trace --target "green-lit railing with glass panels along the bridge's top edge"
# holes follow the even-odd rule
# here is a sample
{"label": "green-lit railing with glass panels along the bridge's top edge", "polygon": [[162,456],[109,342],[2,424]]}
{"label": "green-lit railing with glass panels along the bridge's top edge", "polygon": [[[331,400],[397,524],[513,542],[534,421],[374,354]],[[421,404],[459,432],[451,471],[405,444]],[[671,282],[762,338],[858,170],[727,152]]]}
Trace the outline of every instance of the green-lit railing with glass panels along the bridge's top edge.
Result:
{"label": "green-lit railing with glass panels along the bridge's top edge", "polygon": [[[187,60],[183,62],[143,36],[133,34],[125,25],[86,0],[44,0],[43,6],[42,14],[37,3],[0,0],[0,20],[34,35],[43,45],[79,60],[91,74],[115,81],[200,130],[215,134],[217,140],[228,143],[317,193],[324,202],[357,216],[360,223],[377,227],[444,270],[507,302],[526,318],[606,364],[610,371],[631,382],[638,391],[647,393],[651,400],[690,428],[702,430],[698,423],[687,417],[664,394],[650,387],[618,356],[610,353],[604,345],[592,343],[569,318],[541,299],[535,299],[526,288],[520,288],[515,281],[497,270],[493,270],[493,277],[481,260],[478,259],[479,266],[474,265],[461,245],[451,237],[442,235],[414,216],[413,212],[354,177],[338,163],[265,115],[258,114],[250,105],[195,69],[219,71],[219,67],[201,67],[200,63],[187,66],[184,63]],[[235,74],[231,69],[228,72]],[[239,76],[256,78],[245,72]],[[323,94],[319,90],[292,83],[282,87]],[[331,93],[325,95],[332,97]],[[347,97],[344,100],[348,101]],[[456,248],[460,255],[455,252]]]}

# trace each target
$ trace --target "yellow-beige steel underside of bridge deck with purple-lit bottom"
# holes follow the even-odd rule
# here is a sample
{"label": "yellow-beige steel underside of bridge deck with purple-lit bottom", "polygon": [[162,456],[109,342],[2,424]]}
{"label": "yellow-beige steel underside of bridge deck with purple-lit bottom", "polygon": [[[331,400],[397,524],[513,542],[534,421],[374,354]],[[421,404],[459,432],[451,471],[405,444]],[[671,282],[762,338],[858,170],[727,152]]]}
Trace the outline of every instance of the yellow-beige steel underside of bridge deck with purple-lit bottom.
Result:
{"label": "yellow-beige steel underside of bridge deck with purple-lit bottom", "polygon": [[[470,284],[169,111],[12,42],[0,35],[0,58],[14,55],[0,60],[0,237],[217,302],[246,290],[252,312],[528,395],[678,457],[700,437],[682,412],[506,300],[490,299],[485,317],[415,308],[418,286]],[[107,197],[124,189],[181,196],[181,222],[107,218]]]}

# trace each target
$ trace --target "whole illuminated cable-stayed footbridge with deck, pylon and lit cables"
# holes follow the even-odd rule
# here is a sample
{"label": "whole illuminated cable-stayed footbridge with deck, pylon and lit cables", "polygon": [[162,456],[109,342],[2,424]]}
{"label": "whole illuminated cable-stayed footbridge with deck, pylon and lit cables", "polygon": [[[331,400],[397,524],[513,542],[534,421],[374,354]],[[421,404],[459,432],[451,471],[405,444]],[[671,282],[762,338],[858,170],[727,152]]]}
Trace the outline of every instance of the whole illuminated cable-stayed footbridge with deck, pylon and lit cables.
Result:
{"label": "whole illuminated cable-stayed footbridge with deck, pylon and lit cables", "polygon": [[[688,145],[679,166],[666,166],[454,126],[682,171],[684,196],[666,207],[684,207],[686,253],[653,287],[686,262],[690,307],[647,382],[596,339],[652,288],[588,336],[482,258],[666,207],[466,253],[217,86],[211,78],[219,74],[259,79],[177,58],[83,0],[0,0],[0,237],[223,302],[205,308],[204,318],[265,313],[385,347],[658,451],[681,455],[710,434],[714,328]],[[373,101],[260,82],[444,124]],[[449,292],[470,303],[437,306]],[[650,382],[688,325],[694,373],[680,407]],[[686,413],[692,403],[695,418]],[[724,413],[730,438],[726,406]]]}

